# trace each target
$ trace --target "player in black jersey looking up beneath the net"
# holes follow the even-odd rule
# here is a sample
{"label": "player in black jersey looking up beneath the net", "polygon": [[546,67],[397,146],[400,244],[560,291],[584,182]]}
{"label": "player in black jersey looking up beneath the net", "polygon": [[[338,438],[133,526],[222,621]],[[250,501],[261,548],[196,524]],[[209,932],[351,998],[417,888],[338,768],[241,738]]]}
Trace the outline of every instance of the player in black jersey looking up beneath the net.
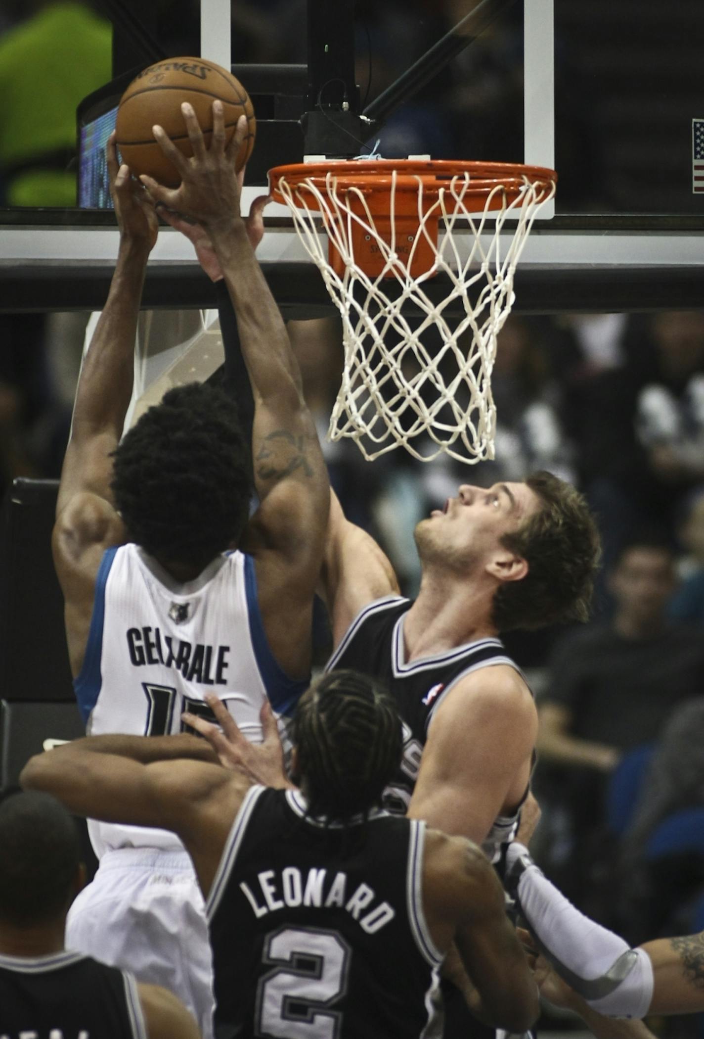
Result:
{"label": "player in black jersey looking up beneath the net", "polygon": [[[519,826],[538,724],[498,635],[586,619],[598,535],[581,496],[541,473],[488,489],[460,486],[415,536],[423,580],[409,602],[381,549],[332,496],[323,574],[335,644],[328,668],[374,675],[397,701],[404,753],[385,806],[467,836],[495,861]],[[246,764],[244,750],[259,774],[259,749],[242,748],[236,731],[228,744],[213,726],[195,727],[223,762]],[[268,775],[275,772],[274,760]],[[527,831],[519,835],[527,842]],[[448,1007],[446,1039],[466,1035],[457,992]]]}

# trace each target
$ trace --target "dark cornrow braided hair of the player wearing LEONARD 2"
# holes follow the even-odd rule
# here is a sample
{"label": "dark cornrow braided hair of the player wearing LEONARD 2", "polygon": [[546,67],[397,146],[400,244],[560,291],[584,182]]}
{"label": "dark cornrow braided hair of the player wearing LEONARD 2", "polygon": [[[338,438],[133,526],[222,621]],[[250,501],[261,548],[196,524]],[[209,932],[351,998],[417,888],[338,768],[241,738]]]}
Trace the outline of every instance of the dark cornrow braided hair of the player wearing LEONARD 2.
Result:
{"label": "dark cornrow braided hair of the player wearing LEONARD 2", "polygon": [[396,703],[358,671],[331,671],[301,698],[291,735],[308,814],[328,822],[367,818],[381,803],[403,749]]}

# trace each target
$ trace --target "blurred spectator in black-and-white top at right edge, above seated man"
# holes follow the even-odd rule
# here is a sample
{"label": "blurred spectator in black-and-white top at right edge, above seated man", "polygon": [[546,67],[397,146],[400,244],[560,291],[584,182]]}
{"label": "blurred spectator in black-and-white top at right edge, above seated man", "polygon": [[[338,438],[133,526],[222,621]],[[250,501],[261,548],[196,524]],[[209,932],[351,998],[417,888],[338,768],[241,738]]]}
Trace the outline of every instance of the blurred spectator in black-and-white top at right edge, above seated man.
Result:
{"label": "blurred spectator in black-and-white top at right edge, above seated man", "polygon": [[632,321],[623,350],[623,367],[573,388],[567,401],[606,569],[643,524],[674,542],[678,504],[704,479],[704,313]]}

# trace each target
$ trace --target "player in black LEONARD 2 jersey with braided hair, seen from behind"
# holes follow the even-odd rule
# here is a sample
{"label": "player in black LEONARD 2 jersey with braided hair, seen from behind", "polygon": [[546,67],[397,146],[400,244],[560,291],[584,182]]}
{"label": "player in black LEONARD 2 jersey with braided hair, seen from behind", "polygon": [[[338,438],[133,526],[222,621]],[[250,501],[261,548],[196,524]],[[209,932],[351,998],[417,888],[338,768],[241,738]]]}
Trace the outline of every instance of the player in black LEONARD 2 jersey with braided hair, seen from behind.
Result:
{"label": "player in black LEONARD 2 jersey with braided hair, seen from behind", "polygon": [[189,736],[88,737],[33,757],[22,782],[181,836],[208,899],[218,1039],[436,1035],[453,940],[477,1011],[527,1028],[537,990],[486,857],[375,810],[401,756],[392,700],[355,672],[325,675],[293,742],[300,791],[252,787]]}

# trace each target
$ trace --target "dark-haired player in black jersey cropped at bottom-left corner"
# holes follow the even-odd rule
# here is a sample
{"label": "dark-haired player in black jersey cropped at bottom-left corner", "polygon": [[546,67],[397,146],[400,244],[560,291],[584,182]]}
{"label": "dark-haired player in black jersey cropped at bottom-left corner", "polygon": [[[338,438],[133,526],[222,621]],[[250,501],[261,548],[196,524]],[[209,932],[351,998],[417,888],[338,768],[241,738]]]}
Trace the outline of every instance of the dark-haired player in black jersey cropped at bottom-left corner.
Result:
{"label": "dark-haired player in black jersey cropped at bottom-left corner", "polygon": [[171,992],[67,952],[69,906],[85,880],[76,826],[53,797],[0,802],[0,1036],[199,1039]]}

